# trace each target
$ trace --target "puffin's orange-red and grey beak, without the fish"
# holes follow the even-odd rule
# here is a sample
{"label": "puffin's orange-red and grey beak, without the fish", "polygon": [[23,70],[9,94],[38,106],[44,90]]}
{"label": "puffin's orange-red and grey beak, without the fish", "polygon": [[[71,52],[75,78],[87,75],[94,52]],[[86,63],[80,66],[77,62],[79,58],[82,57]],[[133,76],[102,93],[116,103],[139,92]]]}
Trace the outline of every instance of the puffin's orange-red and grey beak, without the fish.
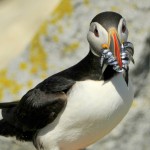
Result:
{"label": "puffin's orange-red and grey beak, without the fish", "polygon": [[122,68],[122,60],[121,60],[121,43],[118,39],[117,32],[114,28],[109,30],[109,49],[116,57],[120,68]]}

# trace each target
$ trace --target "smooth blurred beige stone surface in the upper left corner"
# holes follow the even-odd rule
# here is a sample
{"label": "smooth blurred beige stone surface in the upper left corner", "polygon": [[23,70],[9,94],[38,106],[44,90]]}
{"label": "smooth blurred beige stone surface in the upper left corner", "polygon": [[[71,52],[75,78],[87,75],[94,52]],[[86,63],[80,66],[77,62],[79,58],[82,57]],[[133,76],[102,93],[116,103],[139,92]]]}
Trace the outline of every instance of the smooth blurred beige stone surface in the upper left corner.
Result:
{"label": "smooth blurred beige stone surface in the upper left corner", "polygon": [[21,54],[59,1],[0,0],[0,69]]}

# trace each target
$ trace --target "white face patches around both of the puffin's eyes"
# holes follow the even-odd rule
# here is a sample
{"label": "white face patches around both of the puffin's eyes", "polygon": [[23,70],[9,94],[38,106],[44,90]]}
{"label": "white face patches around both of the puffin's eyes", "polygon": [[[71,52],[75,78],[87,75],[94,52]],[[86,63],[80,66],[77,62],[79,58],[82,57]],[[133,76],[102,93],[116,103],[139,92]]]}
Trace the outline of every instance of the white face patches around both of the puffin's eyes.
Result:
{"label": "white face patches around both of the puffin's eyes", "polygon": [[[127,41],[128,29],[124,18],[119,21],[118,29],[116,29],[116,32],[121,44]],[[108,31],[99,23],[92,22],[87,34],[87,40],[90,44],[90,48],[93,54],[99,56],[101,49],[109,48],[110,46],[110,33],[108,33]]]}

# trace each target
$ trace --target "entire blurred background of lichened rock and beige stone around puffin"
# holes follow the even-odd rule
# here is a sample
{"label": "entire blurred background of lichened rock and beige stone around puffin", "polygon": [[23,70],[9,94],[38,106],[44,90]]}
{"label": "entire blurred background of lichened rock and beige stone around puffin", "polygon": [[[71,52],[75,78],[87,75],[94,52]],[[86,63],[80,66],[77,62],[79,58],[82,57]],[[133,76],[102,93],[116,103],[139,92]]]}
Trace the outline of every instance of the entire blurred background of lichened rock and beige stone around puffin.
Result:
{"label": "entire blurred background of lichened rock and beige stone around puffin", "polygon": [[[149,0],[0,0],[0,101],[19,100],[46,77],[80,61],[89,50],[91,19],[108,10],[124,16],[135,47],[130,72],[135,100],[123,121],[87,149],[149,150]],[[0,137],[0,150],[10,149],[34,147]]]}

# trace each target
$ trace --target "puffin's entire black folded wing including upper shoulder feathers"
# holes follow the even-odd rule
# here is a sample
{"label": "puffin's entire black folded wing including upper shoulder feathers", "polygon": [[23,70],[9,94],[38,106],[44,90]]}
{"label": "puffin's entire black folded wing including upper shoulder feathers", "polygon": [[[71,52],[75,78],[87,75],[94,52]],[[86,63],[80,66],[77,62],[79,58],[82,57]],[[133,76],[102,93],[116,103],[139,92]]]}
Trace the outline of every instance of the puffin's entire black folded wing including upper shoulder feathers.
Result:
{"label": "puffin's entire black folded wing including upper shoulder feathers", "polygon": [[17,128],[33,131],[53,122],[67,103],[66,92],[75,81],[50,77],[28,91],[12,108],[2,111],[3,118]]}

